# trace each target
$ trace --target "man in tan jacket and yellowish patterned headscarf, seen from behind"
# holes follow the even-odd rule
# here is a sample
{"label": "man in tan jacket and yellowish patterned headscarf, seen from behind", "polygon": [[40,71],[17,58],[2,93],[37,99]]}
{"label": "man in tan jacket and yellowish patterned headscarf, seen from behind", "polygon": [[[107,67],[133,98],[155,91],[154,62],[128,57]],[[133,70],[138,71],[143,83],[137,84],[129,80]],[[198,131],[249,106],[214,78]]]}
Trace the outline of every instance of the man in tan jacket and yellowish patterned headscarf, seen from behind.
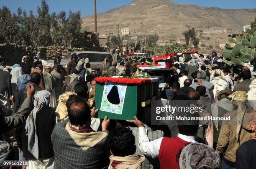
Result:
{"label": "man in tan jacket and yellowish patterned headscarf, seen from behind", "polygon": [[216,151],[220,157],[224,155],[222,168],[236,167],[236,150],[250,137],[252,130],[249,125],[251,113],[247,108],[247,93],[237,91],[228,96],[232,100],[234,110],[224,115],[230,120],[223,120]]}

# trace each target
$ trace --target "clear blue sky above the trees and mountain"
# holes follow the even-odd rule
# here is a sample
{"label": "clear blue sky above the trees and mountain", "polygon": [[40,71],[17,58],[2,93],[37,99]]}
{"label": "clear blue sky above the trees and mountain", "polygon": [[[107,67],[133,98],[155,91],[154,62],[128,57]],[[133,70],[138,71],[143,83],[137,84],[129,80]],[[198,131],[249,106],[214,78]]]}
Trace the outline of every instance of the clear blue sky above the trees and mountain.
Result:
{"label": "clear blue sky above the trees and mountain", "polygon": [[[103,13],[113,8],[127,5],[133,0],[97,0],[97,13]],[[156,0],[157,1],[157,0]],[[205,7],[220,7],[225,9],[256,8],[256,0],[172,0],[178,4],[199,5]],[[49,12],[59,13],[64,10],[81,11],[81,17],[94,14],[94,0],[46,0]],[[0,7],[6,5],[11,12],[16,12],[18,7],[27,13],[33,10],[36,14],[37,6],[41,6],[41,0],[0,0]]]}

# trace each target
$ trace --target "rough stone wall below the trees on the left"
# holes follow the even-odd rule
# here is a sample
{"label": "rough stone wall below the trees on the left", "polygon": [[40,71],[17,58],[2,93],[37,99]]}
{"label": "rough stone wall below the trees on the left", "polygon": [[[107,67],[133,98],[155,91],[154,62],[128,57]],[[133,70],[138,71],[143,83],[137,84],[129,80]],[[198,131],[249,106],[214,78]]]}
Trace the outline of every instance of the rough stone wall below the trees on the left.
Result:
{"label": "rough stone wall below the trees on the left", "polygon": [[47,47],[32,47],[21,46],[16,44],[0,44],[0,65],[14,65],[20,63],[24,55],[28,55],[30,60],[37,52],[41,52],[41,56],[46,60],[52,60],[57,53],[66,56],[69,52],[73,51],[95,51],[94,48],[76,48],[76,47],[61,47],[61,46],[47,46]]}

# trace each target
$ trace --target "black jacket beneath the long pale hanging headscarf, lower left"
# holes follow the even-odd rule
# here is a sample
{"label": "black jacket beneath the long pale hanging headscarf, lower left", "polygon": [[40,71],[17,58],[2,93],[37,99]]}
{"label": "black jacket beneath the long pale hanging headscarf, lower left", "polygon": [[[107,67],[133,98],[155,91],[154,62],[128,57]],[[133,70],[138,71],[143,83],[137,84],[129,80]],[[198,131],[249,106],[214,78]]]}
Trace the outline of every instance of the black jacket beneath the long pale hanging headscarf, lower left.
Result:
{"label": "black jacket beneath the long pale hanging headscarf, lower left", "polygon": [[[30,112],[29,112],[30,113]],[[25,117],[28,118],[28,114]],[[25,119],[26,119],[25,118]],[[56,124],[55,109],[51,107],[43,107],[36,114],[36,131],[38,134],[39,158],[54,157],[53,147],[51,143],[51,133]],[[18,147],[23,151],[24,158],[33,159],[33,155],[28,151],[28,136],[25,134],[26,123],[15,130],[15,138]]]}

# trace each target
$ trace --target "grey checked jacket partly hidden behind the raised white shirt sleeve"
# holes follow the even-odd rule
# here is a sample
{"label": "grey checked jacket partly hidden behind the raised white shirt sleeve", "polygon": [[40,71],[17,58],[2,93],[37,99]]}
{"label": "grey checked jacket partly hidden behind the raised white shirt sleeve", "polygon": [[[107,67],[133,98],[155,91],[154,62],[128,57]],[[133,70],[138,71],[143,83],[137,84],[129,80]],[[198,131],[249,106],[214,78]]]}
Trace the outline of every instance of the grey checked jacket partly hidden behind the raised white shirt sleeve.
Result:
{"label": "grey checked jacket partly hidden behind the raised white shirt sleeve", "polygon": [[[164,137],[164,132],[161,130],[153,131],[150,127],[148,127],[146,124],[144,124],[149,141],[153,141],[155,139],[159,139],[161,137]],[[138,133],[138,127],[129,127],[133,135],[135,136],[135,144],[138,146],[139,143],[139,133]],[[141,150],[137,147],[135,154],[143,154]],[[146,157],[146,156],[145,156]],[[146,160],[142,163],[141,169],[160,169],[159,160],[152,159],[150,157],[146,157]]]}

